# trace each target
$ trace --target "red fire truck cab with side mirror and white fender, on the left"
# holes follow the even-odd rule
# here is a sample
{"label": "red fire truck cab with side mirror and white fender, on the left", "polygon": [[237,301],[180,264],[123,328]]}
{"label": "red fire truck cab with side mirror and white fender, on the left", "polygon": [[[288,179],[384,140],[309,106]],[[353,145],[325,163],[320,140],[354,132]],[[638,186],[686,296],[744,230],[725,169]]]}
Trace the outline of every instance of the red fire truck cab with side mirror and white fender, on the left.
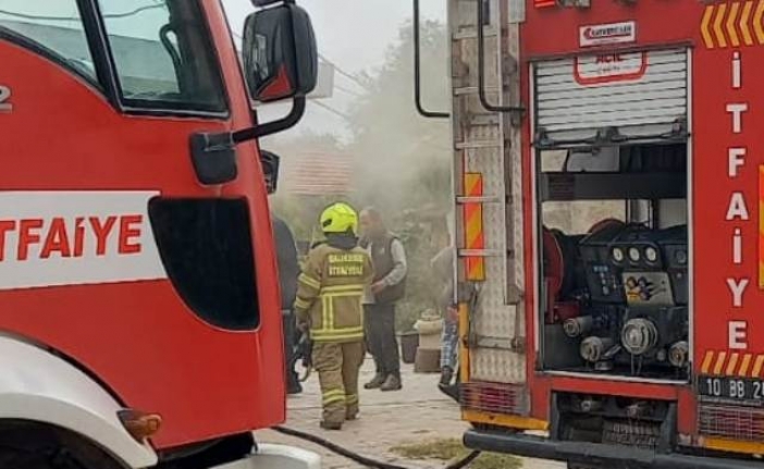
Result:
{"label": "red fire truck cab with side mirror and white fender, on the left", "polygon": [[318,67],[252,3],[239,66],[218,0],[0,2],[0,466],[318,467],[251,434],[285,415],[257,138]]}

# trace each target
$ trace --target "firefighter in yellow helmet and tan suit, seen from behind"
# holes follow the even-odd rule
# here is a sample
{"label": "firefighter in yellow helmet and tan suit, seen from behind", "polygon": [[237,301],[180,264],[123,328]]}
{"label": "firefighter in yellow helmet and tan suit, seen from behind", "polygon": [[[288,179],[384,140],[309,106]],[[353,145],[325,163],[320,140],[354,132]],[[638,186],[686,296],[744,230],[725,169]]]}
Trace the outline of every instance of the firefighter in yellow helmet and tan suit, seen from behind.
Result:
{"label": "firefighter in yellow helmet and tan suit, seen from behind", "polygon": [[312,363],[319,373],[321,428],[341,430],[358,415],[358,372],[366,354],[361,300],[371,284],[369,255],[358,247],[358,215],[346,203],[321,213],[325,242],[308,254],[298,279],[298,328],[309,331]]}

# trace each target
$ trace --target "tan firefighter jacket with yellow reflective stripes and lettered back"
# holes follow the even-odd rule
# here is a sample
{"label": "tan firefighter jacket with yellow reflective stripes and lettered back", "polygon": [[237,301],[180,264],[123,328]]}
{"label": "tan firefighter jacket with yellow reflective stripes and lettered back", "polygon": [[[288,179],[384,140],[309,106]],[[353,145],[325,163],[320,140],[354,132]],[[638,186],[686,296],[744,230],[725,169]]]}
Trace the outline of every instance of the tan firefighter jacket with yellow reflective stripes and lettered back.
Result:
{"label": "tan firefighter jacket with yellow reflective stripes and lettered back", "polygon": [[[343,246],[344,247],[344,246]],[[363,338],[363,289],[373,269],[361,248],[321,244],[309,254],[299,275],[295,311],[310,325],[316,343],[346,343]]]}

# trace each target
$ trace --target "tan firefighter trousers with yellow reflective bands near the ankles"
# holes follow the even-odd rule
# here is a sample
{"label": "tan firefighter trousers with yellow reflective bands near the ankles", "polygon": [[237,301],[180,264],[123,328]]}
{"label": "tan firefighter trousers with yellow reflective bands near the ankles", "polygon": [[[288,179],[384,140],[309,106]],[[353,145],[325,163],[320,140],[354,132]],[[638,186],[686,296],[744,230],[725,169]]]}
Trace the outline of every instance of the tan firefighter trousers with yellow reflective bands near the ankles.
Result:
{"label": "tan firefighter trousers with yellow reflective bands near the ankles", "polygon": [[363,342],[315,343],[313,369],[319,373],[323,421],[342,423],[358,415],[358,373]]}

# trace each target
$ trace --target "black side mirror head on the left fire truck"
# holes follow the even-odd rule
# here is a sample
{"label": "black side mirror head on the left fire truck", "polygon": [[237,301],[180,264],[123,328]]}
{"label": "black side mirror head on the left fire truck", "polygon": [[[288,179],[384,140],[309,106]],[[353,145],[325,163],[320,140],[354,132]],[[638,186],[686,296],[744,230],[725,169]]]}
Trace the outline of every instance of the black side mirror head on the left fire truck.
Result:
{"label": "black side mirror head on the left fire truck", "polygon": [[247,16],[242,49],[247,86],[255,100],[304,97],[316,88],[316,35],[310,16],[300,7],[287,2]]}

